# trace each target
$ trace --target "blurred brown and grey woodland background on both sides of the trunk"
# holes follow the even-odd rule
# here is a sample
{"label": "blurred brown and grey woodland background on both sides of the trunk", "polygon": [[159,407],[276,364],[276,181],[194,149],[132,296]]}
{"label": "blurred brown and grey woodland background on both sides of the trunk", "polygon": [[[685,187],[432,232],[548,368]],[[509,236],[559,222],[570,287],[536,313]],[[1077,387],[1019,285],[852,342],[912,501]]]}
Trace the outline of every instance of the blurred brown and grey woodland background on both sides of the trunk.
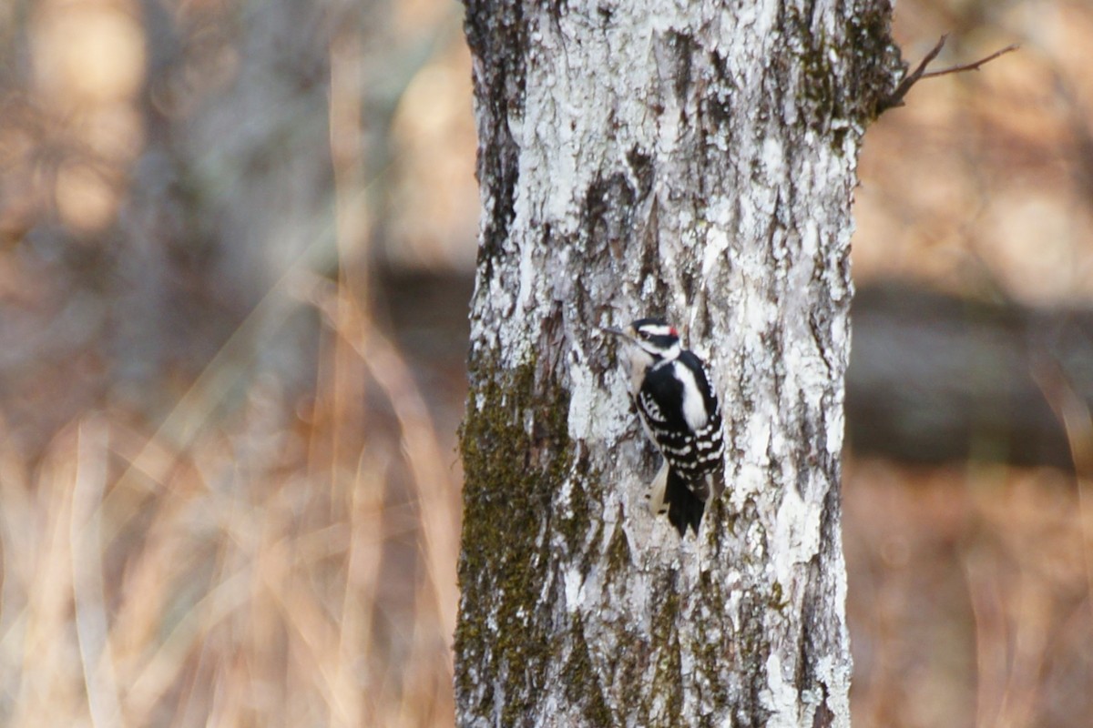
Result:
{"label": "blurred brown and grey woodland background on both sides of the trunk", "polygon": [[[0,5],[0,724],[448,726],[478,196],[443,0]],[[1093,3],[902,0],[857,726],[1093,715]]]}

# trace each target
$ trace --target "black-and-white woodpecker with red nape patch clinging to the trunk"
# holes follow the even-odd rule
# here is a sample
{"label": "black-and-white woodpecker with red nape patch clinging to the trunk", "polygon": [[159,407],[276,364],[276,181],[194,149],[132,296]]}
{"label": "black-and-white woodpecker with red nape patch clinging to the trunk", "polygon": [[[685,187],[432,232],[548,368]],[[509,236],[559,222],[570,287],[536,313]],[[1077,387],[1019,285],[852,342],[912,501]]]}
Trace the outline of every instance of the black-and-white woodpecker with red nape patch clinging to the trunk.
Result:
{"label": "black-and-white woodpecker with red nape patch clinging to the trunk", "polygon": [[638,319],[603,330],[623,338],[630,392],[645,433],[665,462],[649,487],[649,512],[695,535],[706,505],[725,490],[721,413],[702,359],[680,345],[663,319]]}

